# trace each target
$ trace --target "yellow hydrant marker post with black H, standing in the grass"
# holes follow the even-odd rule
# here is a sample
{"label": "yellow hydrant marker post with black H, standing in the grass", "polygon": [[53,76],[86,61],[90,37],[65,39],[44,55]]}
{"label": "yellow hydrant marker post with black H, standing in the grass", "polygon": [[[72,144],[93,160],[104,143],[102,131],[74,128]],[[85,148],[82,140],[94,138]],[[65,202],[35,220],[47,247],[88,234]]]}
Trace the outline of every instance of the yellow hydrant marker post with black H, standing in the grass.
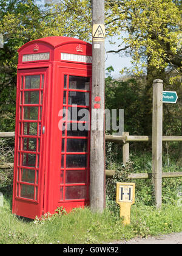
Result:
{"label": "yellow hydrant marker post with black H, standing in the grass", "polygon": [[131,205],[135,203],[135,183],[117,183],[116,203],[120,205],[120,217],[124,217],[123,223],[130,224]]}

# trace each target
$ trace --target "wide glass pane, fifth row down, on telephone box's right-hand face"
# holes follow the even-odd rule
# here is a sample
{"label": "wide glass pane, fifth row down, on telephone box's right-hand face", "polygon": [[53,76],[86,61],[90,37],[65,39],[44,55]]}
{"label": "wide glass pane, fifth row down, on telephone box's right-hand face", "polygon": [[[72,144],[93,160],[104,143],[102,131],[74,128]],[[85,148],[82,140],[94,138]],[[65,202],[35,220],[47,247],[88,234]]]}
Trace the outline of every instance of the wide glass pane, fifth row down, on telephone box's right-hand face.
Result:
{"label": "wide glass pane, fifth row down, on telephone box's right-hand face", "polygon": [[87,152],[87,140],[67,139],[67,152]]}

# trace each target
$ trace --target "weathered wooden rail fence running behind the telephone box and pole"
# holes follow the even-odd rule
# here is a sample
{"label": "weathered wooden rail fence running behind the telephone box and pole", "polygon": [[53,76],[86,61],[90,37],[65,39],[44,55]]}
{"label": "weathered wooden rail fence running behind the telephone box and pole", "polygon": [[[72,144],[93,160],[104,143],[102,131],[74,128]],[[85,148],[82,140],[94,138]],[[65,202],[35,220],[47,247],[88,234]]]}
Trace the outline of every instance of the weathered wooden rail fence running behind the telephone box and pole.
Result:
{"label": "weathered wooden rail fence running behind the telephone box and pole", "polygon": [[[0,132],[0,138],[15,137],[15,132]],[[123,132],[123,136],[106,135],[106,141],[121,143],[123,148],[123,165],[129,162],[129,143],[132,141],[152,141],[150,136],[133,136],[129,132]],[[163,136],[163,141],[182,141],[182,136]],[[0,165],[0,169],[13,168],[13,163],[6,163]],[[106,170],[106,176],[113,176],[115,170]],[[182,172],[163,172],[163,178],[182,177]],[[150,179],[151,173],[132,173],[128,179]]]}

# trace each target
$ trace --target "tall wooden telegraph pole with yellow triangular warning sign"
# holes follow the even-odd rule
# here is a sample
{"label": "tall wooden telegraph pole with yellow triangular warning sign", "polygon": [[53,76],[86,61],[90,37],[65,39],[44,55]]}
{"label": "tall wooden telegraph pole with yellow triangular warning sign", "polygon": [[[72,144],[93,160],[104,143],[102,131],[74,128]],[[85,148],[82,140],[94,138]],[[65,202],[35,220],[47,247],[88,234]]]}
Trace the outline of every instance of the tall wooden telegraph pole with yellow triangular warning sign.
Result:
{"label": "tall wooden telegraph pole with yellow triangular warning sign", "polygon": [[104,178],[104,0],[92,0],[92,117],[90,141],[90,208],[103,212]]}

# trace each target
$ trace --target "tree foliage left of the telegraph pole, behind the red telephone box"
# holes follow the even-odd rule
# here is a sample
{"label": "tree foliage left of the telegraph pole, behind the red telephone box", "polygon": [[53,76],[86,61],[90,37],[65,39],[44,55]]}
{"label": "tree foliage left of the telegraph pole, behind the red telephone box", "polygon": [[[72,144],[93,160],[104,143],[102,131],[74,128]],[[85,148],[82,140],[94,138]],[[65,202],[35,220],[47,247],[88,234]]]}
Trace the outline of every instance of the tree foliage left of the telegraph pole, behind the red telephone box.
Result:
{"label": "tree foliage left of the telegraph pole, behind the red telephone box", "polygon": [[[40,6],[34,0],[1,1],[0,35],[4,38],[4,46],[0,48],[1,130],[15,129],[17,50],[28,41],[41,37],[88,37],[83,21],[76,22],[78,15],[75,17],[66,9],[65,5]],[[87,5],[83,2],[82,16],[86,10]]]}

